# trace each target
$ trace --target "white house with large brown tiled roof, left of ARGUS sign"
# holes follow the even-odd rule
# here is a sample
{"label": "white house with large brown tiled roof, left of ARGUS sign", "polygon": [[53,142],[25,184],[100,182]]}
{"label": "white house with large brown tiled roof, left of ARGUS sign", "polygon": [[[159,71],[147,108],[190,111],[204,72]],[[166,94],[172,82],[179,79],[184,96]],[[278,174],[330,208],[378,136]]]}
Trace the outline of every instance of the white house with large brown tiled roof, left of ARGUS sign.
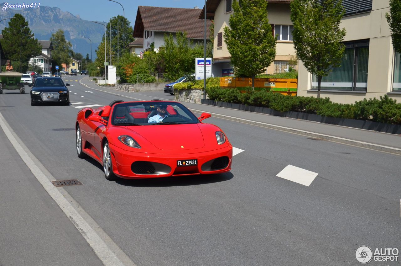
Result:
{"label": "white house with large brown tiled roof, left of ARGUS sign", "polygon": [[[196,43],[203,43],[205,26],[199,20],[199,8],[166,8],[156,6],[138,6],[133,37],[143,38],[143,49],[148,51],[154,43],[154,51],[164,46],[164,35],[172,34],[174,39],[177,32],[186,32],[186,37]],[[206,38],[212,23],[207,20]]]}

